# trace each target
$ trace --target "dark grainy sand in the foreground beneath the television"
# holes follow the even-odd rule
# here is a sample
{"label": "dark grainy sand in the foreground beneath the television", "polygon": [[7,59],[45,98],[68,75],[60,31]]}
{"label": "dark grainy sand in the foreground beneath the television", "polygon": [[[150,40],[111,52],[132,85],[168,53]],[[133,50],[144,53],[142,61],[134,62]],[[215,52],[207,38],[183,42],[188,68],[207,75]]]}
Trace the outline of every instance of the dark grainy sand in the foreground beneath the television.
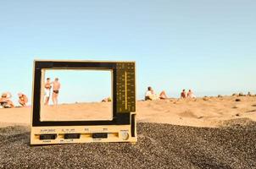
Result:
{"label": "dark grainy sand in the foreground beneath the television", "polygon": [[194,128],[137,123],[136,144],[31,146],[30,129],[0,128],[0,168],[256,168],[256,123]]}

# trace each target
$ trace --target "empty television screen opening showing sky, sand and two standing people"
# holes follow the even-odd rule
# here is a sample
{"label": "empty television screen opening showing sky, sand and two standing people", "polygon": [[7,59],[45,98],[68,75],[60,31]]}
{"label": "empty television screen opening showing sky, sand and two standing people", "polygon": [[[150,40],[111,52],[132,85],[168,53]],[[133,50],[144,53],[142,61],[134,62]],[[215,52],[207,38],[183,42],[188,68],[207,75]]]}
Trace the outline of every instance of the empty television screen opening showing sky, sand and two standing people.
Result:
{"label": "empty television screen opening showing sky, sand and two standing people", "polygon": [[42,69],[41,121],[113,119],[112,71]]}

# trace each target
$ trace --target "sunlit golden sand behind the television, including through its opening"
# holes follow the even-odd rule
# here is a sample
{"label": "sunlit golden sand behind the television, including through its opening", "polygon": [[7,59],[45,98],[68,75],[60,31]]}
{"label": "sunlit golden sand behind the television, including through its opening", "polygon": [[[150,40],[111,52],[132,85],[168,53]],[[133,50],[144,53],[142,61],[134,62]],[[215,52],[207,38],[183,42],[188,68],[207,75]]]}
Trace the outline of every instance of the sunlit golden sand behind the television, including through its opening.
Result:
{"label": "sunlit golden sand behind the television, including through its opening", "polygon": [[[237,98],[241,101],[236,101]],[[108,119],[109,109],[109,103],[60,105],[57,110],[50,106],[43,117],[53,120],[99,117]],[[238,118],[256,121],[256,97],[225,96],[196,100],[137,101],[136,113],[137,121],[142,123],[218,127],[227,120]],[[30,107],[0,109],[0,115],[0,126],[30,125],[31,122]]]}

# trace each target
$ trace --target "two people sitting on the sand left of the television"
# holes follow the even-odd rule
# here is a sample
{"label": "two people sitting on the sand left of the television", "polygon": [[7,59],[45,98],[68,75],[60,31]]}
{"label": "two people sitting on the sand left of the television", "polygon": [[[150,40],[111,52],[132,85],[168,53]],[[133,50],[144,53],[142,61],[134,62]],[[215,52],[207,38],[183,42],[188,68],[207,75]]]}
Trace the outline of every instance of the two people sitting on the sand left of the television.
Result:
{"label": "two people sitting on the sand left of the television", "polygon": [[[18,93],[19,97],[19,106],[26,106],[28,102],[28,98],[25,94],[23,93]],[[13,108],[14,107],[14,102],[11,100],[12,95],[9,92],[5,92],[1,95],[0,98],[0,108]]]}

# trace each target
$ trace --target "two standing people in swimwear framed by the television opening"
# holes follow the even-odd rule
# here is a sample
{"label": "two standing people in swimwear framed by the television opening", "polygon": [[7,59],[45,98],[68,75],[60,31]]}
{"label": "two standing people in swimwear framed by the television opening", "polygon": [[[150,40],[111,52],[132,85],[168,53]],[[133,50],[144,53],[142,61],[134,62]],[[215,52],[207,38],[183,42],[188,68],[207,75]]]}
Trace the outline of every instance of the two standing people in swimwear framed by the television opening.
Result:
{"label": "two standing people in swimwear framed by the television opening", "polygon": [[45,88],[44,105],[49,104],[52,88],[53,88],[53,97],[52,97],[53,105],[58,105],[58,93],[59,93],[59,90],[60,90],[60,83],[58,81],[58,78],[55,78],[53,82],[51,82],[50,78],[47,78],[47,81],[44,85],[44,88]]}

